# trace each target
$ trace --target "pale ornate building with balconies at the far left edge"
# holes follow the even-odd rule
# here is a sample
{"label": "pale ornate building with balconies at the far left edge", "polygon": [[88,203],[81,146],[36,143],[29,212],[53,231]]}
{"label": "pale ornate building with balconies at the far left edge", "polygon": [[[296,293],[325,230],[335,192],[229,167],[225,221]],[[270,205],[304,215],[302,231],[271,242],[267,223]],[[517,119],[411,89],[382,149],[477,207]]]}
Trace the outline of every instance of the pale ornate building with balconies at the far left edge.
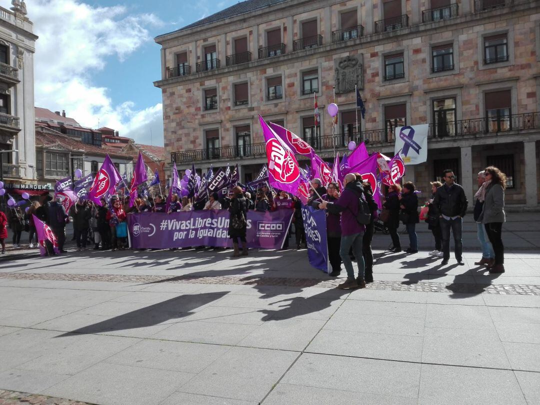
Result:
{"label": "pale ornate building with balconies at the far left edge", "polygon": [[26,9],[0,7],[0,180],[35,180],[33,54]]}

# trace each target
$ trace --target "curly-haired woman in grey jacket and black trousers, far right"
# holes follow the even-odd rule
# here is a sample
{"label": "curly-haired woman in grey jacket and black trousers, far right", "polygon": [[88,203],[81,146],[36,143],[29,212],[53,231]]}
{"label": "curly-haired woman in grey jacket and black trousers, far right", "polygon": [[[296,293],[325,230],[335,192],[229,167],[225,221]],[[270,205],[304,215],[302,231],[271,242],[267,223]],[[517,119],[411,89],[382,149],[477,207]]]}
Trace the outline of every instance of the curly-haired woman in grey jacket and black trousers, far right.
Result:
{"label": "curly-haired woman in grey jacket and black trousers, far right", "polygon": [[504,246],[502,240],[502,226],[506,221],[504,212],[504,189],[507,177],[497,167],[485,168],[485,187],[483,188],[484,206],[480,220],[485,226],[489,241],[495,251],[495,262],[488,266],[491,274],[504,273]]}

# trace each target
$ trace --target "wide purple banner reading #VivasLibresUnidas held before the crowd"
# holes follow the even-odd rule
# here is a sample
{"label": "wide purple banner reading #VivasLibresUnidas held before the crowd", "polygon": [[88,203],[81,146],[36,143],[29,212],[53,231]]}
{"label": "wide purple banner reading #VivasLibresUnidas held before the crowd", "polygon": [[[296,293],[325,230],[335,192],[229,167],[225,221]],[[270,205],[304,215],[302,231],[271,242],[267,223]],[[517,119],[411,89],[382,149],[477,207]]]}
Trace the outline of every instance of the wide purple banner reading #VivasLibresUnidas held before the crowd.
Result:
{"label": "wide purple banner reading #VivasLibresUnidas held before the crowd", "polygon": [[[248,211],[246,240],[249,247],[279,249],[291,225],[292,210]],[[191,212],[127,215],[131,247],[168,249],[173,247],[232,247],[228,237],[229,212],[206,210]]]}

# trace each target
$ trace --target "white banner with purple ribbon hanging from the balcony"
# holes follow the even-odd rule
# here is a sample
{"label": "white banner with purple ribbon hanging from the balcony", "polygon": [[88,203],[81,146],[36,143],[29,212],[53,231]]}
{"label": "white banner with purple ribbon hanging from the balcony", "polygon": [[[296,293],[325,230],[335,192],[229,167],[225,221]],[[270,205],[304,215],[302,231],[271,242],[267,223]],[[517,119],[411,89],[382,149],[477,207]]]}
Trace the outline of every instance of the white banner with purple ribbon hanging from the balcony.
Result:
{"label": "white banner with purple ribbon hanging from the balcony", "polygon": [[428,160],[429,125],[406,125],[396,128],[395,154],[406,165],[417,165]]}

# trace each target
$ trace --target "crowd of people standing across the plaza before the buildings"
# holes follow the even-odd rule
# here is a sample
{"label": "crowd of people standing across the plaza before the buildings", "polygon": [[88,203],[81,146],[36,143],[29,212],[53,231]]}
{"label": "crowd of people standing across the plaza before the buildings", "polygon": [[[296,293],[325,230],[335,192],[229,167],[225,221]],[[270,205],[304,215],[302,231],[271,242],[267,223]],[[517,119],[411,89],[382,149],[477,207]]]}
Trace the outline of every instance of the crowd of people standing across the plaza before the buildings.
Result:
{"label": "crowd of people standing across the plaza before the buildings", "polygon": [[[463,187],[456,183],[452,170],[442,173],[444,183],[430,183],[431,198],[425,201],[426,221],[433,233],[434,250],[430,255],[442,258],[442,265],[448,264],[450,258],[450,235],[454,239],[454,254],[458,265],[464,265],[462,251],[463,217],[467,213],[468,201]],[[504,190],[506,177],[496,167],[487,167],[478,173],[478,191],[475,194],[474,220],[477,223],[477,238],[482,250],[482,258],[475,264],[487,266],[490,273],[504,272],[504,246],[501,232],[505,221]],[[366,283],[373,282],[373,253],[372,240],[375,221],[380,221],[387,228],[392,240],[390,252],[402,251],[400,235],[397,232],[400,222],[406,227],[409,247],[406,253],[419,251],[416,235],[416,224],[420,222],[419,199],[414,183],[407,182],[401,187],[392,185],[388,189],[383,209],[380,211],[373,198],[373,190],[359,173],[349,173],[343,181],[343,190],[337,183],[323,187],[320,179],[312,180],[311,198],[308,205],[315,209],[326,210],[326,228],[329,264],[332,271],[330,276],[336,277],[341,273],[341,264],[346,269],[347,280],[340,288],[363,288]],[[362,204],[359,201],[365,203]],[[12,230],[12,243],[19,246],[22,231],[29,232],[29,247],[37,246],[36,227],[32,215],[48,224],[55,233],[58,248],[65,252],[66,224],[73,221],[73,239],[77,248],[86,249],[89,241],[94,249],[112,251],[124,250],[127,247],[127,215],[133,212],[186,212],[192,210],[230,211],[229,235],[233,241],[233,257],[247,255],[246,218],[248,210],[259,212],[274,210],[292,210],[292,223],[296,248],[306,244],[301,201],[285,191],[274,191],[268,186],[262,186],[255,193],[242,190],[235,186],[227,195],[220,197],[218,193],[208,195],[207,201],[192,202],[187,197],[172,194],[167,205],[161,195],[152,198],[137,198],[130,206],[129,197],[122,198],[113,195],[109,204],[105,199],[102,205],[91,204],[87,200],[79,200],[66,212],[59,200],[48,195],[39,204],[34,201],[26,213],[18,206],[11,208],[6,216],[0,212],[0,242],[2,253],[5,253],[5,239],[8,238],[8,226]],[[367,214],[365,221],[359,216]],[[285,239],[284,249],[289,246],[289,228]],[[241,252],[240,252],[241,247]],[[49,254],[54,254],[51,249]],[[355,276],[352,261],[358,268]]]}

